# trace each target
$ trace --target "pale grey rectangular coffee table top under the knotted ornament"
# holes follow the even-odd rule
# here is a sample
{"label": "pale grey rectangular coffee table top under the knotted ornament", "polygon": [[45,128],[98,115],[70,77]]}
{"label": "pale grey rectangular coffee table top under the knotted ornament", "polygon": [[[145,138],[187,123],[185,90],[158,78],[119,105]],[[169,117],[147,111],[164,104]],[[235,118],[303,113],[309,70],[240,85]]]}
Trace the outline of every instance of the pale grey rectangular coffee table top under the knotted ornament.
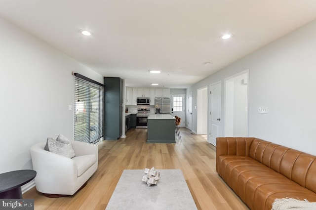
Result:
{"label": "pale grey rectangular coffee table top under the knotted ornament", "polygon": [[123,170],[106,210],[197,210],[180,169],[156,169],[158,185],[142,181],[144,170]]}

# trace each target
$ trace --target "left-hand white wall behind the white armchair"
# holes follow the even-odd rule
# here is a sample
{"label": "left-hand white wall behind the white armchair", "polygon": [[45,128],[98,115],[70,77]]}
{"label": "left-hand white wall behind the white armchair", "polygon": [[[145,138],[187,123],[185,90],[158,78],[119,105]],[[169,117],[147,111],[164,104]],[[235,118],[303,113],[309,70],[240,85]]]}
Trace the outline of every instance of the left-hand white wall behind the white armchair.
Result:
{"label": "left-hand white wall behind the white armchair", "polygon": [[31,169],[30,147],[74,135],[74,78],[103,77],[0,18],[0,173]]}

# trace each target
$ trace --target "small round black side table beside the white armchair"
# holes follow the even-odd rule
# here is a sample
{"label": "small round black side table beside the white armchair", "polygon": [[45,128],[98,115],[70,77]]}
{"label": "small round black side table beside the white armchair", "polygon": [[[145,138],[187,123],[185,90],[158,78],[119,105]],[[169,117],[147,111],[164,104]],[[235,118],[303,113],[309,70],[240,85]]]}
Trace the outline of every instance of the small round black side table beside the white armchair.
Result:
{"label": "small round black side table beside the white armchair", "polygon": [[35,170],[14,170],[0,174],[0,199],[22,198],[21,186],[36,176]]}

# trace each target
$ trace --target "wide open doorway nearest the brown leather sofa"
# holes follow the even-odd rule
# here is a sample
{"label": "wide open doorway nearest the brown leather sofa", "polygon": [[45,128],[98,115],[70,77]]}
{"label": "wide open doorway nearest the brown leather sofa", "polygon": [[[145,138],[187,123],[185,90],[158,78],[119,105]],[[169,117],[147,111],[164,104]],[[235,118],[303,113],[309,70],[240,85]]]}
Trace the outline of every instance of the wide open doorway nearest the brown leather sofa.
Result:
{"label": "wide open doorway nearest the brown leather sofa", "polygon": [[248,72],[225,79],[225,136],[248,136]]}

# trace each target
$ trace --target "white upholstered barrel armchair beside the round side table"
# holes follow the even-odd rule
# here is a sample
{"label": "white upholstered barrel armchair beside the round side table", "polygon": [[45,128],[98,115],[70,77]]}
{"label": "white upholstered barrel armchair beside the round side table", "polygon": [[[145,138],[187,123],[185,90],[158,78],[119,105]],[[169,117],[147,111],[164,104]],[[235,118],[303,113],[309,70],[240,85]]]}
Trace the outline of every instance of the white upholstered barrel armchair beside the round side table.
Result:
{"label": "white upholstered barrel armchair beside the round side table", "polygon": [[[36,189],[44,194],[74,195],[98,168],[98,147],[71,140],[76,153],[67,158],[44,150],[46,142],[31,147]],[[55,196],[51,196],[55,197]]]}

